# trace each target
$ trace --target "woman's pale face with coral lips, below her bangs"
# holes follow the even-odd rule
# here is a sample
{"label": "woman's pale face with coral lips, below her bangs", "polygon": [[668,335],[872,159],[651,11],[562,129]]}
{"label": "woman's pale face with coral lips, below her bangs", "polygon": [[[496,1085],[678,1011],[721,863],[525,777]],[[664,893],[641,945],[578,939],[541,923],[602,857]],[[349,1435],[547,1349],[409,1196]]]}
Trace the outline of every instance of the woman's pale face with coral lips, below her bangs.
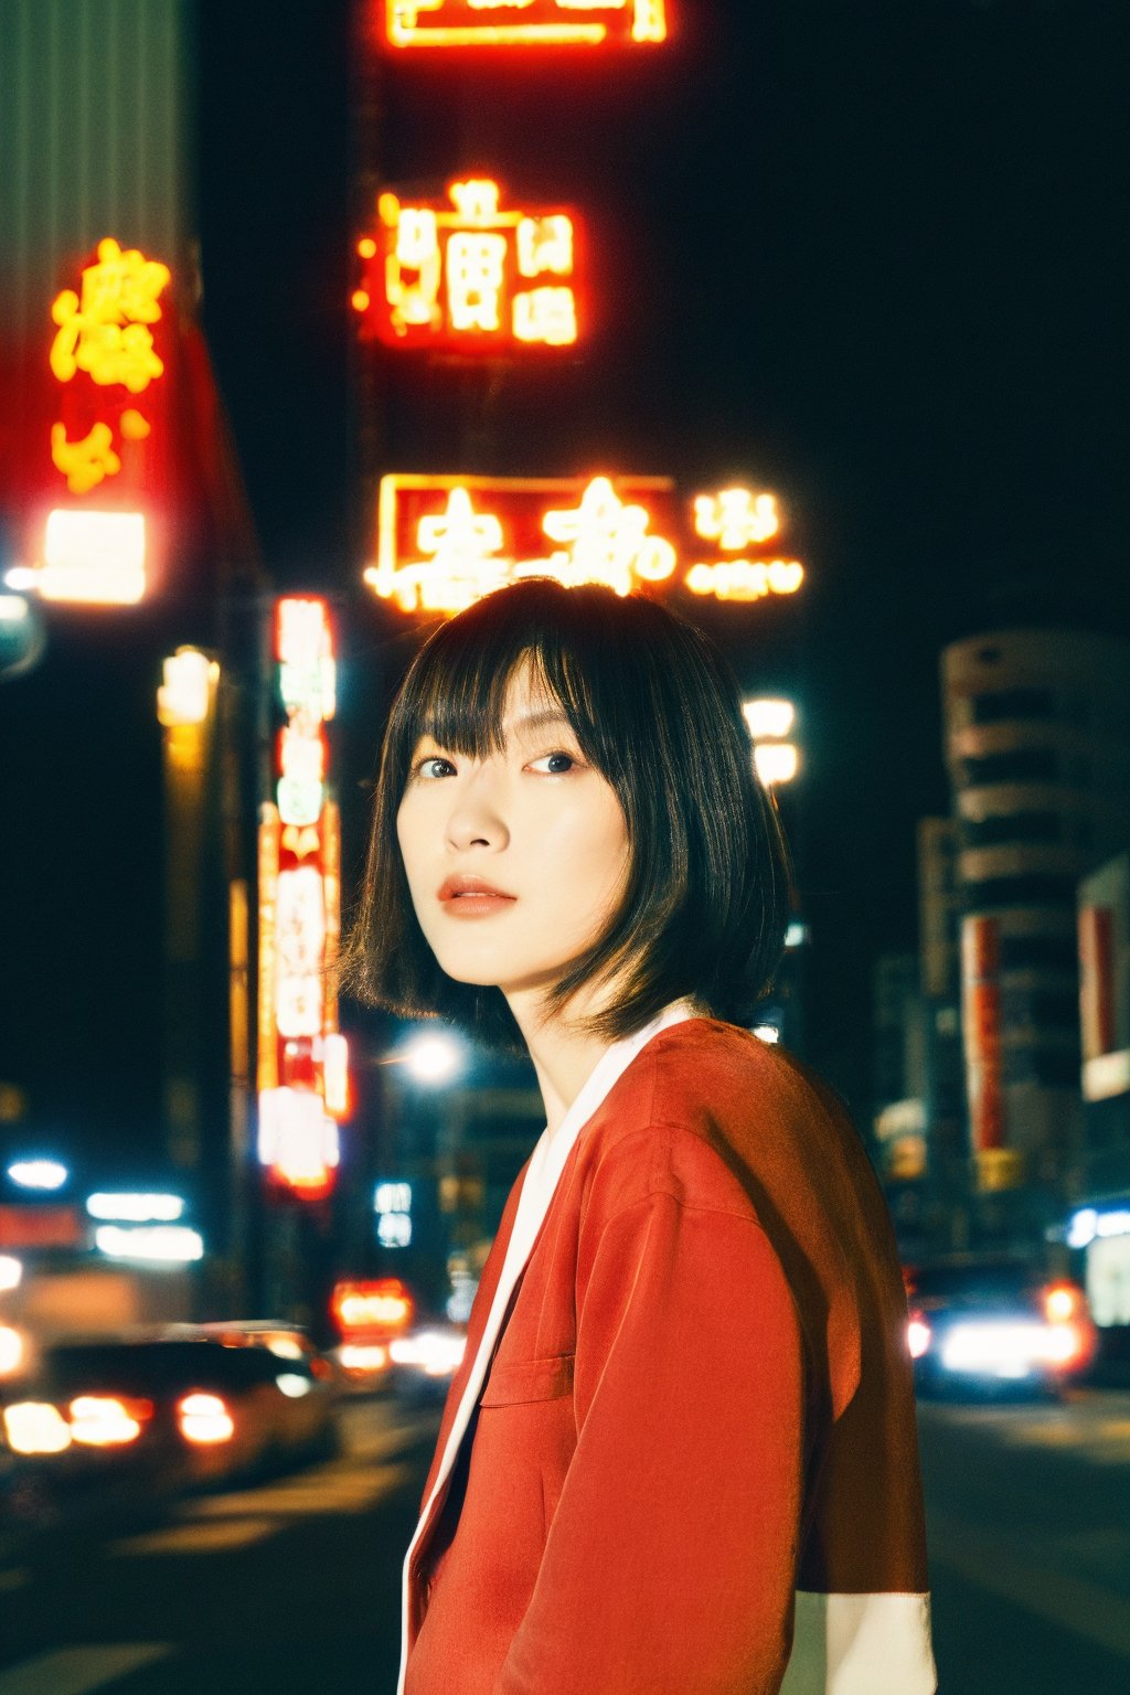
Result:
{"label": "woman's pale face with coral lips, below her bangs", "polygon": [[596,941],[623,888],[629,832],[529,666],[512,678],[503,727],[505,751],[485,759],[420,739],[396,836],[440,968],[510,997],[549,988]]}

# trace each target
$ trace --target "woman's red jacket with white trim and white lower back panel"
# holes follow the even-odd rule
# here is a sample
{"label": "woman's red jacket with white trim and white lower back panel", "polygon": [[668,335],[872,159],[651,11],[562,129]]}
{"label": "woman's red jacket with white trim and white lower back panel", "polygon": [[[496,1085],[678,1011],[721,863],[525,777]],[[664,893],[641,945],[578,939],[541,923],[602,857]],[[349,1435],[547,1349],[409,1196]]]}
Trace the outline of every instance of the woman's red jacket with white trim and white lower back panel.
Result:
{"label": "woman's red jacket with white trim and white lower back panel", "polygon": [[835,1098],[732,1025],[652,1037],[568,1156],[410,1558],[407,1695],[930,1695],[905,1329]]}

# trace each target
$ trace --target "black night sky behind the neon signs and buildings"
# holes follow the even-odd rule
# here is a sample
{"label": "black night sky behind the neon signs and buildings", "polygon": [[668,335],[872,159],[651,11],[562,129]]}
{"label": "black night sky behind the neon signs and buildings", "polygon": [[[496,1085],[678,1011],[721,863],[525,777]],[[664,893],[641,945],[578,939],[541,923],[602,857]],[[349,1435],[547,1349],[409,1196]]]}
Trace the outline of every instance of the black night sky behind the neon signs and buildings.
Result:
{"label": "black night sky behind the neon signs and buildings", "polygon": [[[915,946],[913,825],[947,807],[940,646],[1032,617],[1130,631],[1130,12],[676,8],[654,56],[459,78],[378,64],[346,0],[203,0],[203,325],[271,578],[347,592],[347,868],[410,646],[356,590],[379,459],[779,493],[803,605],[703,622],[747,690],[801,702],[813,1056],[862,1114],[871,966]],[[474,383],[366,371],[347,297],[376,178],[479,164],[588,214],[601,312],[584,363],[510,373],[469,464]],[[171,617],[56,617],[0,688],[0,1076],[44,1134],[144,1137],[158,1112]]]}

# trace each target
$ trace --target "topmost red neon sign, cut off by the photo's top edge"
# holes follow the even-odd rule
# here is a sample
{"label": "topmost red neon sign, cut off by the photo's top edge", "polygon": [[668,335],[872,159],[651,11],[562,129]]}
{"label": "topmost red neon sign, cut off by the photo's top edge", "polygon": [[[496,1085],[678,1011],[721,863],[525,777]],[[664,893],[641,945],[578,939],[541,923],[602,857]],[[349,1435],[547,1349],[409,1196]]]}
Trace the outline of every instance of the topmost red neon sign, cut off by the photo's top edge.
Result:
{"label": "topmost red neon sign, cut off by the photo's top edge", "polygon": [[667,39],[667,0],[376,0],[390,47],[603,47]]}

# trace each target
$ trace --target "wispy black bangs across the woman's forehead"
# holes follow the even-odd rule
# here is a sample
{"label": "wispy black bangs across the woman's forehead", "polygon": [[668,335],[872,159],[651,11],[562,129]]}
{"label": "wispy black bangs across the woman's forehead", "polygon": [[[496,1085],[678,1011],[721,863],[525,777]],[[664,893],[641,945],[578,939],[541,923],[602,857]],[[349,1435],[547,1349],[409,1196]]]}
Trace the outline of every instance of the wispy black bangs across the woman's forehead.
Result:
{"label": "wispy black bangs across the woman's forehead", "polygon": [[552,610],[559,614],[561,607],[532,603],[532,597],[488,595],[435,631],[390,719],[395,781],[407,780],[424,736],[473,759],[501,753],[510,685],[523,666],[530,668],[534,692],[561,709],[586,759],[608,773],[608,725],[601,725],[593,698],[584,620],[569,620],[574,627],[566,629]]}

